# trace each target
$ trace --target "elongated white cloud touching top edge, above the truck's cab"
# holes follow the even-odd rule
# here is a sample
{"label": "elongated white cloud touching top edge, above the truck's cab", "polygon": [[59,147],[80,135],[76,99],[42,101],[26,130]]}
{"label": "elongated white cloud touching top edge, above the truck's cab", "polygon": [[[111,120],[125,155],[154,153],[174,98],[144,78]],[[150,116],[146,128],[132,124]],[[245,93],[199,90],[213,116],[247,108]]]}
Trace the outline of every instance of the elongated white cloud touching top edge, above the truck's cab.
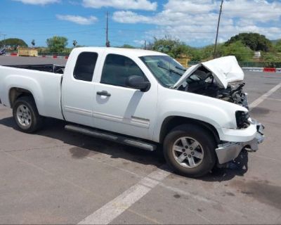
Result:
{"label": "elongated white cloud touching top edge, above the truck's cab", "polygon": [[157,2],[148,0],[83,0],[83,6],[87,8],[112,7],[119,9],[155,11],[157,9]]}

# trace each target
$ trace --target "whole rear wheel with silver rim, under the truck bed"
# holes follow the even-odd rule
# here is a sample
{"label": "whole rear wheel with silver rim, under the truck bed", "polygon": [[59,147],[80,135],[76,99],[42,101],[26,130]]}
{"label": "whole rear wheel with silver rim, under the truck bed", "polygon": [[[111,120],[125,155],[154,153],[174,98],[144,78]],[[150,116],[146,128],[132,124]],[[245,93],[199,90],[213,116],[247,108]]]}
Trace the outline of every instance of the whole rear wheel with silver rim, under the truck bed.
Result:
{"label": "whole rear wheel with silver rim, under the truck bed", "polygon": [[20,131],[32,133],[41,127],[43,118],[39,115],[34,99],[30,96],[18,98],[13,105],[13,118]]}

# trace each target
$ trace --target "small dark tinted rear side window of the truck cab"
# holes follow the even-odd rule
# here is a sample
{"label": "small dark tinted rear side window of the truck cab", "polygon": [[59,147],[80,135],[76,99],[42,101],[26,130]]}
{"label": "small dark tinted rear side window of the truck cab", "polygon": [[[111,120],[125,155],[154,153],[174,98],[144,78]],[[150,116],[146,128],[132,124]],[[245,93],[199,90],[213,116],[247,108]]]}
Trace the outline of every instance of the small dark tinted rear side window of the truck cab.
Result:
{"label": "small dark tinted rear side window of the truck cab", "polygon": [[73,72],[74,78],[91,82],[93,79],[93,71],[96,67],[97,58],[98,53],[95,52],[80,53]]}

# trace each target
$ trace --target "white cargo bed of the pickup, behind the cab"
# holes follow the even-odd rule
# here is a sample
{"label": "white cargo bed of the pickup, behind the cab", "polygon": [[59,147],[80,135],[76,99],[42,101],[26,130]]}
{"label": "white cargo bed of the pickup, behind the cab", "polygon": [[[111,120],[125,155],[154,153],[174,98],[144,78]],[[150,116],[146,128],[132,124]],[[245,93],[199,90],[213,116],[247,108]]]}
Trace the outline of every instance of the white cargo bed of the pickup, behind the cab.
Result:
{"label": "white cargo bed of the pickup, behind the cab", "polygon": [[40,115],[63,119],[60,108],[60,84],[63,77],[60,71],[63,70],[60,69],[63,68],[51,64],[0,66],[1,103],[11,107],[10,91],[15,88],[25,89],[34,97]]}

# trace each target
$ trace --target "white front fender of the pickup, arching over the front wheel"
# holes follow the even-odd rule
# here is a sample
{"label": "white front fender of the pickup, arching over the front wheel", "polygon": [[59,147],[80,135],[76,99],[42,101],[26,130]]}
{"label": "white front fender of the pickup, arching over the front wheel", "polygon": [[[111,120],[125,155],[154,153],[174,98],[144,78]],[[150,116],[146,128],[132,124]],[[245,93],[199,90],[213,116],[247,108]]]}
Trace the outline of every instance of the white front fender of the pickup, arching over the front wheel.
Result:
{"label": "white front fender of the pickup, arching over the front wheel", "polygon": [[185,117],[211,124],[218,132],[220,139],[223,140],[223,129],[237,128],[235,118],[237,110],[247,112],[246,108],[234,103],[209,96],[166,89],[161,86],[159,87],[157,122],[153,141],[160,141],[162,124],[167,117],[171,116]]}

